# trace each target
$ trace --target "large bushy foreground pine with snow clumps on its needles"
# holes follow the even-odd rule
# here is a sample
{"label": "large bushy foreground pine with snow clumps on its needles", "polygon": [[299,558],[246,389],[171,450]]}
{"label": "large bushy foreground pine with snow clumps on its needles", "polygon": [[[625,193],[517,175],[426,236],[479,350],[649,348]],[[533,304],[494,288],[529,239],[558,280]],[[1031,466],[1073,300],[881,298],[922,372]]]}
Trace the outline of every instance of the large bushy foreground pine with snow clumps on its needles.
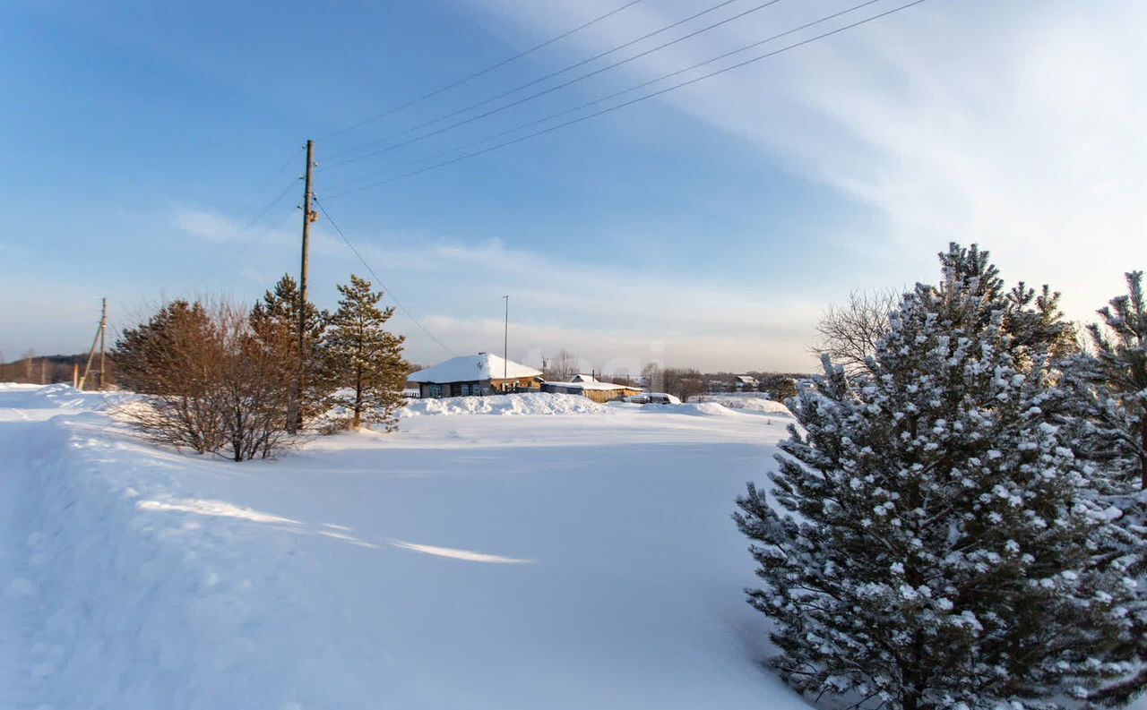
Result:
{"label": "large bushy foreground pine with snow clumps on its needles", "polygon": [[1041,412],[1050,378],[1017,366],[986,254],[953,255],[891,314],[871,378],[825,362],[771,498],[750,483],[738,502],[750,604],[814,696],[1044,708],[1124,670],[1105,654],[1129,633],[1129,579],[1093,566],[1108,523]]}

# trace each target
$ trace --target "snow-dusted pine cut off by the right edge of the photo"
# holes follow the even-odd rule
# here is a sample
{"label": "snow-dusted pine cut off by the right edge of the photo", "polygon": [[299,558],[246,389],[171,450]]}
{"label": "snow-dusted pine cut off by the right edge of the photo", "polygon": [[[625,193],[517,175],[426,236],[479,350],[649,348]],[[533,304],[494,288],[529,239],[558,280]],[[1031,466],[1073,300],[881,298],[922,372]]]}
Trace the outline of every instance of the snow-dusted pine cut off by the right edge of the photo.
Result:
{"label": "snow-dusted pine cut off by the right edge of the photo", "polygon": [[[1069,396],[1058,408],[1077,432],[1079,456],[1101,505],[1113,515],[1101,560],[1113,559],[1136,578],[1147,575],[1147,302],[1142,271],[1126,274],[1128,294],[1110,300],[1087,328],[1092,352],[1071,358]],[[1103,689],[1107,704],[1147,691],[1147,590],[1130,618],[1134,633],[1119,649],[1136,671]]]}

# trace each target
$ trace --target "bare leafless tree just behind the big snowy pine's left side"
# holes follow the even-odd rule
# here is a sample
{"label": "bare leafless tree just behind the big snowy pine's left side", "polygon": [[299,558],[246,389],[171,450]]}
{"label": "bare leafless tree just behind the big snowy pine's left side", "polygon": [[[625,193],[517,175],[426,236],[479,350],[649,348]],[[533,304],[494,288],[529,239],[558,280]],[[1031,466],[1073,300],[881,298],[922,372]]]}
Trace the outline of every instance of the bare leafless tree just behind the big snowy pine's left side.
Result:
{"label": "bare leafless tree just behind the big snowy pine's left side", "polygon": [[813,352],[844,365],[849,374],[864,372],[876,341],[888,332],[888,314],[898,300],[892,290],[853,291],[846,303],[829,306],[817,323],[820,342]]}

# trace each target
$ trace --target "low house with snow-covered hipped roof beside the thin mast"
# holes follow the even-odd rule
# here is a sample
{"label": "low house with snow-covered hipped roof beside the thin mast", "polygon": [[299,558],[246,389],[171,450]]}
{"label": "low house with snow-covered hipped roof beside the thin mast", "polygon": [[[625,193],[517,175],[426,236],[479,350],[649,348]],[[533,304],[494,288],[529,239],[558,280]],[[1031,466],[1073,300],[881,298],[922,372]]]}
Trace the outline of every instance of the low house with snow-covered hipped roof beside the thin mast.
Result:
{"label": "low house with snow-covered hipped roof beside the thin mast", "polygon": [[506,392],[538,392],[541,371],[490,353],[452,357],[406,378],[421,397],[467,397]]}

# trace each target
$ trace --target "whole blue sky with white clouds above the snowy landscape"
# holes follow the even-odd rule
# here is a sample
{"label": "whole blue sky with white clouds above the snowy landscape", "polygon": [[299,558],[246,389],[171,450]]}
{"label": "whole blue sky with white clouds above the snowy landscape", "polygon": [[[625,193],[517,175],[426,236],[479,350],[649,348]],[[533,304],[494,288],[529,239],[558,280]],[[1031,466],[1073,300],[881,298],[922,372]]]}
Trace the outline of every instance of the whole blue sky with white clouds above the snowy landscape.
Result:
{"label": "whole blue sky with white clouds above the snowy landscape", "polygon": [[500,353],[509,294],[513,360],[811,371],[830,303],[934,282],[951,240],[1092,320],[1147,268],[1138,0],[927,0],[498,147],[908,0],[540,120],[860,1],[640,0],[400,110],[626,0],[7,2],[0,352],[297,276],[306,139],[311,295],[372,278],[419,363]]}

